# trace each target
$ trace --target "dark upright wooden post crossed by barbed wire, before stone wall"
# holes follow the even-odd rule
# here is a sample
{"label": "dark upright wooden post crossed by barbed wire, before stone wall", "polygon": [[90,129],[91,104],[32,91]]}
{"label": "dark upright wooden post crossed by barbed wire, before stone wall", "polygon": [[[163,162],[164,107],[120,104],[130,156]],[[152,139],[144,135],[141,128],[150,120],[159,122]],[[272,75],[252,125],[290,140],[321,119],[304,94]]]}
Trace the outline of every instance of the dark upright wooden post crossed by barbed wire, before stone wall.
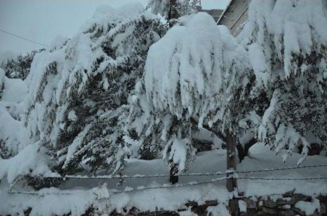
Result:
{"label": "dark upright wooden post crossed by barbed wire, before stone wall", "polygon": [[[236,150],[235,150],[235,139],[233,135],[227,131],[226,132],[226,148],[227,148],[227,170],[235,170],[236,171]],[[230,177],[232,174],[227,174],[226,187],[228,192],[237,191],[237,179]],[[238,200],[233,199],[229,201],[229,207],[231,211],[231,215],[238,216],[239,215],[239,203]]]}

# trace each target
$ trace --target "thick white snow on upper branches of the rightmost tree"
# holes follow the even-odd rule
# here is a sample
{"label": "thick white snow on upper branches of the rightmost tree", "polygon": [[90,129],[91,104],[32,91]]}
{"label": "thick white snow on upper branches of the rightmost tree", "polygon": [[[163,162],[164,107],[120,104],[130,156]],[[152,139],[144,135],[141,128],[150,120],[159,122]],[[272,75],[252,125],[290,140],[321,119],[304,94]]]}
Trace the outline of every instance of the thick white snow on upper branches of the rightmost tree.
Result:
{"label": "thick white snow on upper branches of the rightmost tree", "polygon": [[249,47],[249,57],[257,78],[263,82],[269,78],[265,65],[269,65],[275,55],[284,64],[288,77],[291,72],[300,70],[292,54],[305,57],[327,44],[326,11],[321,0],[251,1],[248,21],[237,39],[246,46],[253,43],[249,38],[254,35],[255,43]]}

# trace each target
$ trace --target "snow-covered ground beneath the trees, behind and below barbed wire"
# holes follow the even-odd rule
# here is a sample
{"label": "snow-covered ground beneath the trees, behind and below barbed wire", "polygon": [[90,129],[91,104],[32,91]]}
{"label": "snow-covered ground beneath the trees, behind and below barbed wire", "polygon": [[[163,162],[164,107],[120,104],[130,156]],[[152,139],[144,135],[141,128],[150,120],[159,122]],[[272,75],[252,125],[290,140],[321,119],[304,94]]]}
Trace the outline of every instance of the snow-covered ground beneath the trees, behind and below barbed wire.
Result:
{"label": "snow-covered ground beneath the trees, behind and below barbed wire", "polygon": [[[238,171],[263,170],[273,168],[294,167],[301,155],[294,153],[283,163],[280,155],[275,155],[267,147],[255,144],[249,150],[249,157],[238,164]],[[301,166],[327,165],[325,156],[308,156]],[[215,173],[226,171],[225,150],[200,152],[196,161],[187,173]],[[105,174],[105,173],[103,173]],[[161,160],[128,160],[125,175],[167,175],[168,170]],[[239,177],[265,178],[312,178],[327,176],[327,169],[301,168],[261,173],[238,174]],[[211,181],[221,176],[181,176],[179,184]],[[44,188],[39,195],[7,194],[9,190],[6,181],[0,185],[0,214],[19,213],[32,207],[32,215],[52,215],[72,212],[72,215],[83,213],[92,204],[105,209],[103,211],[123,212],[124,208],[136,207],[147,210],[177,210],[187,209],[188,201],[199,204],[205,200],[217,200],[224,203],[232,195],[225,188],[225,180],[207,184],[178,186],[171,188],[155,188],[127,192],[135,188],[169,185],[169,177],[126,179],[121,185],[116,185],[119,179],[68,179],[59,188]],[[104,188],[103,183],[106,183]],[[99,186],[100,185],[100,186]],[[327,193],[327,181],[322,180],[252,180],[238,179],[239,191],[244,196],[282,194],[295,189],[295,193],[314,195]],[[125,191],[126,192],[122,192]],[[33,192],[32,188],[17,183],[13,192]],[[122,192],[122,193],[115,193]],[[29,198],[29,199],[27,199]],[[218,209],[224,212],[223,205]],[[208,209],[210,210],[210,209]],[[216,209],[217,210],[217,209]],[[218,211],[217,210],[217,211]],[[186,212],[187,214],[187,212]]]}

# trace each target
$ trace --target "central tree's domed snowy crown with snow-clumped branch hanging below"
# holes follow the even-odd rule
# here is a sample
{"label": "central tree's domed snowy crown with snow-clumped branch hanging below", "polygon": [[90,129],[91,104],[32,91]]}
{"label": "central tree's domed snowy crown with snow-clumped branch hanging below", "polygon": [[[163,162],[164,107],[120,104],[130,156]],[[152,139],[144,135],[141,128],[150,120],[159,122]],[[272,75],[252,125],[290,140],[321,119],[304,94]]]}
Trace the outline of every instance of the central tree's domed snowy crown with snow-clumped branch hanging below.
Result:
{"label": "central tree's domed snowy crown with snow-clumped branch hanging below", "polygon": [[[212,126],[218,121],[223,122],[222,128],[231,127],[225,116],[230,115],[229,105],[235,100],[232,92],[244,89],[249,82],[245,74],[248,66],[245,49],[206,13],[192,16],[184,26],[174,26],[150,47],[145,66],[145,90],[148,101],[161,115],[159,119],[165,119],[161,129],[163,137],[170,132],[164,158],[171,160],[170,163],[176,162],[172,160],[175,142],[171,139],[177,139],[178,146],[182,144],[178,140],[192,139],[190,118],[198,119],[198,127],[203,123]],[[167,118],[166,113],[172,117]],[[186,143],[184,148],[188,146]],[[188,153],[186,160],[178,160],[179,168],[188,168],[180,163],[194,156],[191,145],[188,148],[190,150],[180,151],[180,154]],[[166,156],[167,151],[172,155]]]}

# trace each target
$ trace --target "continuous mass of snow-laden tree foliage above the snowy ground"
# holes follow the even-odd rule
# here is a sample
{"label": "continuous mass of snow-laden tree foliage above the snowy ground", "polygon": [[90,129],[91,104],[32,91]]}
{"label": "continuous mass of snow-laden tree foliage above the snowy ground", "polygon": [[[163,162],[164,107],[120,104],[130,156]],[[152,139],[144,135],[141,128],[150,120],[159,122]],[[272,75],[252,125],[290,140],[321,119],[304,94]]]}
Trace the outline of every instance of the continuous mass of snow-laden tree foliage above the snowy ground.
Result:
{"label": "continuous mass of snow-laden tree foliage above the snowy ground", "polygon": [[1,178],[119,173],[126,157],[160,157],[177,174],[202,127],[284,159],[299,151],[299,163],[311,144],[326,147],[324,2],[253,0],[237,39],[206,13],[189,15],[190,1],[177,1],[188,16],[174,22],[168,1],[151,4],[164,17],[103,6],[71,39],[0,56]]}

